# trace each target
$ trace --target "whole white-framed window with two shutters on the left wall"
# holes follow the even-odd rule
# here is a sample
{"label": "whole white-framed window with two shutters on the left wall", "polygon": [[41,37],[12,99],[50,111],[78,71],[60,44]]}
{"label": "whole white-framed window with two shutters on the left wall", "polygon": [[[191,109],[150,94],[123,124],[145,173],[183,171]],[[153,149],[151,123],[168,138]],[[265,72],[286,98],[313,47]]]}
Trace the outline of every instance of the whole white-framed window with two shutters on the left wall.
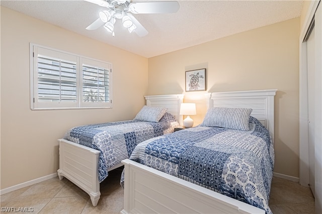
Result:
{"label": "whole white-framed window with two shutters on the left wall", "polygon": [[31,109],[111,108],[112,65],[30,45]]}

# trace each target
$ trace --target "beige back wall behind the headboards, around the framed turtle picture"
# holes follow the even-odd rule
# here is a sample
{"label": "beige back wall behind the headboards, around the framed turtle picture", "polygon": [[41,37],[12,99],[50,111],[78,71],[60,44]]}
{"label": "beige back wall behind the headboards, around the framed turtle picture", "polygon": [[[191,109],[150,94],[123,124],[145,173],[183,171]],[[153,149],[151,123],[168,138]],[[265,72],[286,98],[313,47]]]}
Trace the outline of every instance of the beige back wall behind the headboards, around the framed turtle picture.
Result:
{"label": "beige back wall behind the headboards, around the framed turtle picture", "polygon": [[297,18],[150,58],[148,94],[184,93],[197,125],[205,92],[185,92],[187,70],[207,68],[207,92],[278,89],[274,172],[298,177],[299,33]]}

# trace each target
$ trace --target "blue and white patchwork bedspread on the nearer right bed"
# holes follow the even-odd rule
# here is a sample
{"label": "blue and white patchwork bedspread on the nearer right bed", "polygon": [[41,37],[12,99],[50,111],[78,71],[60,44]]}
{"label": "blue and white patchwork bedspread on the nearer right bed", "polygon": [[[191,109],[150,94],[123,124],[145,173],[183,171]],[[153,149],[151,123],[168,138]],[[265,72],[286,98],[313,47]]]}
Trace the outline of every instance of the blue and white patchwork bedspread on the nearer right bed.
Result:
{"label": "blue and white patchwork bedspread on the nearer right bed", "polygon": [[184,129],[138,144],[130,159],[271,213],[273,142],[253,117],[250,128]]}

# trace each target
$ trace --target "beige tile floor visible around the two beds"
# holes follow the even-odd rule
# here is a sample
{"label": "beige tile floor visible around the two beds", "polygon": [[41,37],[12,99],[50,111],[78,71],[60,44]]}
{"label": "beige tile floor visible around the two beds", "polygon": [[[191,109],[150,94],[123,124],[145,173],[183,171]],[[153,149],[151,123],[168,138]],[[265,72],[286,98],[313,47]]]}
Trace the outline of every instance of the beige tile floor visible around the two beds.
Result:
{"label": "beige tile floor visible around the two beds", "polygon": [[[123,209],[123,189],[119,184],[121,172],[122,169],[110,171],[101,183],[101,198],[96,207],[82,189],[65,178],[59,180],[56,177],[1,195],[1,212],[5,213],[4,207],[15,207],[16,210],[32,207],[32,213],[120,213]],[[278,177],[273,178],[269,204],[274,214],[314,213],[310,189]]]}

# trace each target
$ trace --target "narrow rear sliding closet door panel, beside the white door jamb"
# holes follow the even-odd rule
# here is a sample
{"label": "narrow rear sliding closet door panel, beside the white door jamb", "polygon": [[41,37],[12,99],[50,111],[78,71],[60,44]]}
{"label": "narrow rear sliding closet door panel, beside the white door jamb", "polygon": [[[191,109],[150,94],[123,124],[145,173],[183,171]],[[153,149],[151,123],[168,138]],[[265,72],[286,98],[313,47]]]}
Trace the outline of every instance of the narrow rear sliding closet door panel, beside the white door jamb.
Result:
{"label": "narrow rear sliding closet door panel, beside the white door jamb", "polygon": [[308,161],[309,161],[309,186],[314,195],[314,105],[315,105],[315,37],[314,28],[310,30],[307,43],[307,99],[308,99]]}

